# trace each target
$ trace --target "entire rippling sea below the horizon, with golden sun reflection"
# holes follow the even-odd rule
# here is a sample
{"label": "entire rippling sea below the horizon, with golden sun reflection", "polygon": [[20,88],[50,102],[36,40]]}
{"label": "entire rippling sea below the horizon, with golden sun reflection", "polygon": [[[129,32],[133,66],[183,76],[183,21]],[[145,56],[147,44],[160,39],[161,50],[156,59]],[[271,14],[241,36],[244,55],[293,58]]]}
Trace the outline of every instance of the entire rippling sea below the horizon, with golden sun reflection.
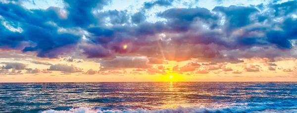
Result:
{"label": "entire rippling sea below the horizon, with golden sun reflection", "polygon": [[0,113],[297,113],[297,82],[0,83]]}

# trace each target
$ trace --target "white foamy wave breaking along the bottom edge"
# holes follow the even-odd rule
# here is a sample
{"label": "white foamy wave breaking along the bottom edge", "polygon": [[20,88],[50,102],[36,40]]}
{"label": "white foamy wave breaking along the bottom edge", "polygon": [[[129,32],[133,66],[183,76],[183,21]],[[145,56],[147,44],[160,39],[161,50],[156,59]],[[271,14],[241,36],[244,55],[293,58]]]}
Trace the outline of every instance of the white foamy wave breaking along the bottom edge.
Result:
{"label": "white foamy wave breaking along the bottom edge", "polygon": [[179,106],[176,109],[167,108],[160,110],[148,110],[148,109],[136,109],[136,110],[100,110],[92,107],[80,107],[72,108],[68,111],[55,111],[47,110],[41,113],[277,113],[277,112],[290,112],[296,113],[297,108],[288,109],[284,111],[281,109],[278,110],[268,110],[267,106],[247,106],[247,103],[236,104],[236,105],[216,105],[216,106],[199,106],[199,107],[181,107]]}

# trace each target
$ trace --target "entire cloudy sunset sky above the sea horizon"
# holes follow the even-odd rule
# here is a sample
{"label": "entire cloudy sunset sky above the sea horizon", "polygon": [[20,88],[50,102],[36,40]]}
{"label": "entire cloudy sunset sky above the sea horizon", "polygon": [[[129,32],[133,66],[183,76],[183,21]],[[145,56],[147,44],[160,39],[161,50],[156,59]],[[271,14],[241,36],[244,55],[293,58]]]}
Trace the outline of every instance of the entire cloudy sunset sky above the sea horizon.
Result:
{"label": "entire cloudy sunset sky above the sea horizon", "polygon": [[0,0],[0,82],[297,81],[296,45],[297,0]]}

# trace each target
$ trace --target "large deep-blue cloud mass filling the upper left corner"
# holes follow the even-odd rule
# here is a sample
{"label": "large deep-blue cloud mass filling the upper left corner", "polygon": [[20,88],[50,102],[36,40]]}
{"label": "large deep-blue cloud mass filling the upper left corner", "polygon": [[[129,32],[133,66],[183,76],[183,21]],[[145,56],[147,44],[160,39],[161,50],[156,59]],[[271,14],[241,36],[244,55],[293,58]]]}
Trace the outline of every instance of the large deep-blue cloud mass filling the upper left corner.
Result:
{"label": "large deep-blue cloud mass filling the upper left corner", "polygon": [[[22,32],[0,31],[1,34],[4,34],[1,36],[2,39],[8,41],[3,44],[8,48],[25,47],[23,52],[37,52],[37,56],[40,57],[56,58],[64,53],[69,53],[75,49],[74,45],[78,43],[80,37],[68,31],[60,31],[58,26],[62,28],[85,27],[96,23],[97,19],[91,10],[95,7],[101,9],[102,5],[108,4],[106,1],[73,2],[65,0],[65,4],[68,5],[65,7],[66,11],[59,7],[29,10],[19,4],[1,3],[0,15],[10,24],[19,23],[22,26],[20,28]],[[65,12],[65,14],[61,15],[60,12]],[[78,14],[80,16],[77,16]],[[24,41],[31,41],[32,44],[23,44]]]}

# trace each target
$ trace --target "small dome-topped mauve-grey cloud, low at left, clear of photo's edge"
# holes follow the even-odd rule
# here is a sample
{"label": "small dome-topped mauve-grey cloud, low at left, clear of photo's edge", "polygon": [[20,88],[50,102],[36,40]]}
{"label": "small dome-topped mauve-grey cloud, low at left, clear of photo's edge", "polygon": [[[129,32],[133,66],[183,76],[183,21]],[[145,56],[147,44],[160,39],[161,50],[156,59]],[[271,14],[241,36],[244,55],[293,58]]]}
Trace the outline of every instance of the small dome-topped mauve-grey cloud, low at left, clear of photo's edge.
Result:
{"label": "small dome-topped mauve-grey cloud, low at left, clear of photo's edge", "polygon": [[48,70],[52,71],[61,71],[63,73],[74,73],[74,72],[82,72],[82,68],[75,67],[74,65],[67,65],[67,64],[55,64],[51,65]]}

